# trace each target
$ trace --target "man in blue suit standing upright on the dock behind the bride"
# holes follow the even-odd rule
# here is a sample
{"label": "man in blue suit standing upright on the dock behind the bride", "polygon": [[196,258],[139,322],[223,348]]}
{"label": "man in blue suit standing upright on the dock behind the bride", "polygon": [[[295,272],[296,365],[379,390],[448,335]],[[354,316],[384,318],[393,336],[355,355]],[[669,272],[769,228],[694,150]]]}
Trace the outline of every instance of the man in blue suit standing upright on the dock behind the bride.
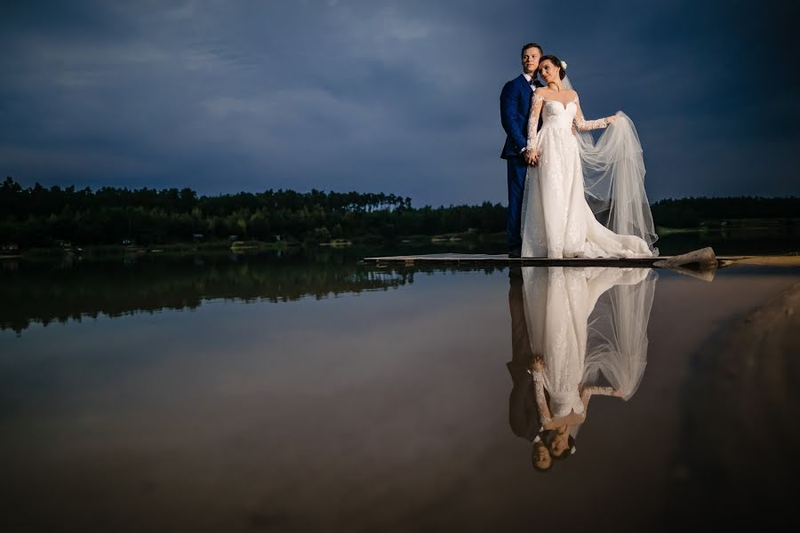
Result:
{"label": "man in blue suit standing upright on the dock behind the bride", "polygon": [[500,92],[500,122],[506,131],[506,145],[500,157],[508,165],[508,257],[518,258],[522,252],[520,222],[522,218],[522,199],[525,187],[525,173],[528,161],[536,162],[536,155],[525,157],[528,135],[528,115],[531,111],[531,98],[536,87],[536,69],[541,59],[541,46],[528,43],[522,49],[523,73],[503,86]]}

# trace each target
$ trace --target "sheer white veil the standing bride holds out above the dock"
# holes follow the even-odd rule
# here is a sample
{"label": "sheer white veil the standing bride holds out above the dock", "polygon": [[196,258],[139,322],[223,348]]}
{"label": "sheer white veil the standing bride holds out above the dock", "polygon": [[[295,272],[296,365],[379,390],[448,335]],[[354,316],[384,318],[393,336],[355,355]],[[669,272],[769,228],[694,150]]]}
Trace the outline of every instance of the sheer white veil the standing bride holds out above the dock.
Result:
{"label": "sheer white veil the standing bride holds out above the dock", "polygon": [[[562,84],[565,89],[573,89],[568,76],[564,76]],[[621,111],[616,115],[618,119],[609,124],[596,142],[588,131],[578,132],[587,202],[612,232],[636,235],[658,255],[653,246],[658,235],[644,192],[642,145],[628,115]]]}

